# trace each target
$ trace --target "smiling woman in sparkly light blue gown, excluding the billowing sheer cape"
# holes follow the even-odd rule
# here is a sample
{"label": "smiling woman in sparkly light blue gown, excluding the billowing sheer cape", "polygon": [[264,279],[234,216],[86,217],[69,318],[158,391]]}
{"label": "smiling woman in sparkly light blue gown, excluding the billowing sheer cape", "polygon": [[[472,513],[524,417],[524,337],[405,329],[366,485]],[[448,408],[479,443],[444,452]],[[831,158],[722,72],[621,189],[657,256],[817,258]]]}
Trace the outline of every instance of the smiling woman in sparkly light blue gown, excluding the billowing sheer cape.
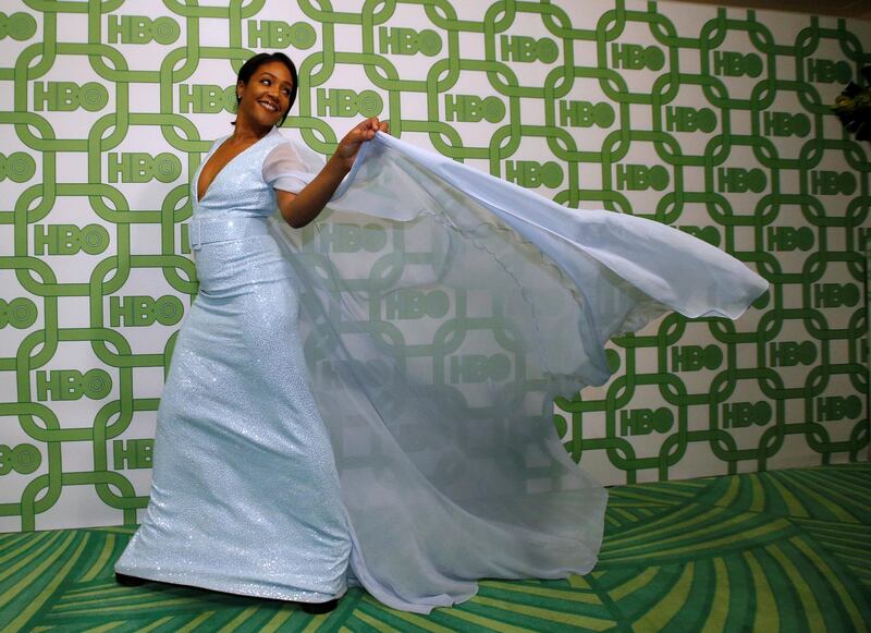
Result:
{"label": "smiling woman in sparkly light blue gown, excluding the billowing sheer cape", "polygon": [[[233,134],[192,181],[200,294],[161,398],[149,506],[116,571],[120,582],[299,600],[319,612],[345,592],[351,536],[308,386],[293,272],[266,219],[278,207],[293,227],[311,221],[388,124],[354,127],[304,183],[287,175],[298,159],[277,131],[296,90],[282,53],[243,64]],[[284,175],[266,179],[269,169]]]}

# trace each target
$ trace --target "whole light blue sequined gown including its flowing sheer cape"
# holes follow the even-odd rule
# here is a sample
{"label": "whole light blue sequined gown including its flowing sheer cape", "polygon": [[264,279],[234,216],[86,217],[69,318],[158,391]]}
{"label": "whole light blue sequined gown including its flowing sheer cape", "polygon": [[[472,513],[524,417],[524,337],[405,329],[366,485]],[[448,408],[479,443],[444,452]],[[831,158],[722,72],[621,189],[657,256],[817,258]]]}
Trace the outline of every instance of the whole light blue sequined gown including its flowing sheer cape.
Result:
{"label": "whole light blue sequined gown including its flowing sheer cape", "polygon": [[611,336],[666,309],[737,318],[765,282],[380,134],[315,224],[270,219],[320,165],[275,130],[201,200],[195,174],[200,291],[115,570],[312,602],[359,583],[418,612],[482,577],[589,572],[606,494],[553,398],[608,378]]}

